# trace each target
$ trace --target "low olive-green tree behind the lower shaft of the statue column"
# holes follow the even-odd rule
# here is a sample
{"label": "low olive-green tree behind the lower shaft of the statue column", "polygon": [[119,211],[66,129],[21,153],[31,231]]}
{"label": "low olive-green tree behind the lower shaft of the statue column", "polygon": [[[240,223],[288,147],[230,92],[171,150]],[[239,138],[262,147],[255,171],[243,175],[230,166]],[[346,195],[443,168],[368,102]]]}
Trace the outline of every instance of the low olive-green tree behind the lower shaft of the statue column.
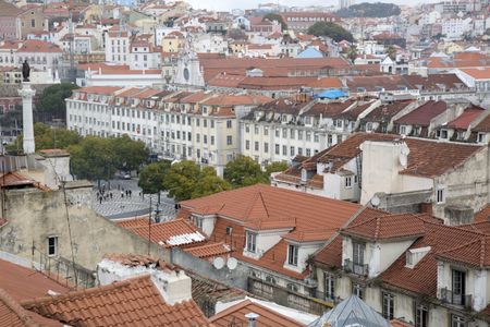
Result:
{"label": "low olive-green tree behind the lower shaft of the statue column", "polygon": [[[34,141],[37,152],[48,148],[66,149],[72,145],[78,144],[81,140],[82,137],[75,131],[52,128],[44,123],[34,124]],[[24,137],[20,135],[13,144],[8,146],[8,150],[22,149],[23,141]]]}

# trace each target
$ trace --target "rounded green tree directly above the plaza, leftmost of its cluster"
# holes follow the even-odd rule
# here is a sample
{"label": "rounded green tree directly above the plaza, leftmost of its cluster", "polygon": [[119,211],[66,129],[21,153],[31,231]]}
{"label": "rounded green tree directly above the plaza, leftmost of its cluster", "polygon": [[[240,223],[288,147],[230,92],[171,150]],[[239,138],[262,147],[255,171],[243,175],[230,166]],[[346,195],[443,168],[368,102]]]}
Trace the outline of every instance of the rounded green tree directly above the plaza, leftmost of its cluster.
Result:
{"label": "rounded green tree directly above the plaza, leftmost of its cluster", "polygon": [[86,136],[69,147],[72,172],[78,179],[108,180],[115,173],[115,150],[108,138]]}

